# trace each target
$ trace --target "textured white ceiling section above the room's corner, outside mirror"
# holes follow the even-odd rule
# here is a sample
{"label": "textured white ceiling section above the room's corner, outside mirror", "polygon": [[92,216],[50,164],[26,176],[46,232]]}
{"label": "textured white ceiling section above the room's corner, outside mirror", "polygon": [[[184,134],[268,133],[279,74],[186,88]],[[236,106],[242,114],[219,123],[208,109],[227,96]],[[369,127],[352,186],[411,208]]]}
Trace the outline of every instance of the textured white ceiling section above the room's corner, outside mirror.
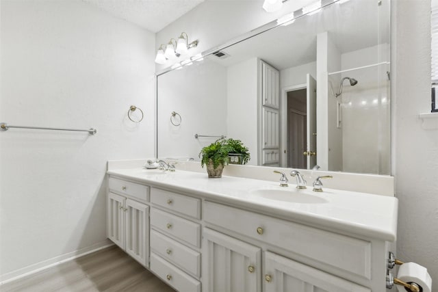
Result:
{"label": "textured white ceiling section above the room's corner, outside mirror", "polygon": [[153,33],[177,20],[204,0],[82,0]]}

